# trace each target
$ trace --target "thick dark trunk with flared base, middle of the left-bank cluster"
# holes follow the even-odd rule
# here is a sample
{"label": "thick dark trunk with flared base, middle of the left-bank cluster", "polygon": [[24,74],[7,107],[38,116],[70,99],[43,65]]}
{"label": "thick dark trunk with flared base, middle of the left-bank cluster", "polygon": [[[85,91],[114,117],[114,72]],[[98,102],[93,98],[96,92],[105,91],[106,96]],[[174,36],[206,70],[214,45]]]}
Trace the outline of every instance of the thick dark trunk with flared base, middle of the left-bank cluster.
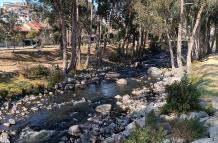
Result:
{"label": "thick dark trunk with flared base, middle of the left-bank cluster", "polygon": [[76,68],[76,49],[77,49],[77,34],[78,34],[78,27],[77,27],[77,6],[78,0],[72,2],[72,36],[71,36],[71,58],[70,64],[67,68],[67,72],[69,73]]}

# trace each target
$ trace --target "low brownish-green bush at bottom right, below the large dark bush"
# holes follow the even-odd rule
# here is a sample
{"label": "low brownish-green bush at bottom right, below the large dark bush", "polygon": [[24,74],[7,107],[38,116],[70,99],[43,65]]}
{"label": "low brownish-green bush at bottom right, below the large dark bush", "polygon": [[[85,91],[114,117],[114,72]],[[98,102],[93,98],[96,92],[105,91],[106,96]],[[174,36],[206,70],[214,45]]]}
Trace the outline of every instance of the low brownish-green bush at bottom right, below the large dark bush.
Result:
{"label": "low brownish-green bush at bottom right, below the large dark bush", "polygon": [[205,127],[198,120],[176,122],[172,129],[174,138],[186,139],[187,142],[201,138],[204,131],[206,131]]}

